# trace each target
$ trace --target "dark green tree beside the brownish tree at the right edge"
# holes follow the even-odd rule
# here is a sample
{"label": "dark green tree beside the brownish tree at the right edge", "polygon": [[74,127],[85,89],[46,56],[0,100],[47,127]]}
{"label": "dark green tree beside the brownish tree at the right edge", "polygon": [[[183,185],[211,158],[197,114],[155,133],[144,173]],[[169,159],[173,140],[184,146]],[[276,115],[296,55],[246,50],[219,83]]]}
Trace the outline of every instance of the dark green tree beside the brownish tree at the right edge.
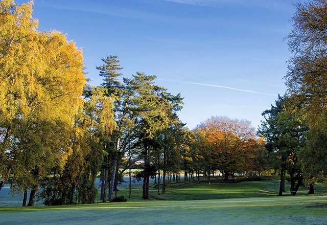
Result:
{"label": "dark green tree beside the brownish tree at the right edge", "polygon": [[[284,191],[286,173],[291,177],[291,193],[295,194],[302,185],[303,174],[298,160],[299,150],[305,146],[306,121],[295,110],[288,107],[289,98],[278,96],[276,105],[263,112],[265,120],[262,122],[259,134],[267,143],[271,162],[279,165],[281,187],[279,195]],[[275,162],[274,162],[275,161]],[[297,181],[297,185],[295,185]]]}

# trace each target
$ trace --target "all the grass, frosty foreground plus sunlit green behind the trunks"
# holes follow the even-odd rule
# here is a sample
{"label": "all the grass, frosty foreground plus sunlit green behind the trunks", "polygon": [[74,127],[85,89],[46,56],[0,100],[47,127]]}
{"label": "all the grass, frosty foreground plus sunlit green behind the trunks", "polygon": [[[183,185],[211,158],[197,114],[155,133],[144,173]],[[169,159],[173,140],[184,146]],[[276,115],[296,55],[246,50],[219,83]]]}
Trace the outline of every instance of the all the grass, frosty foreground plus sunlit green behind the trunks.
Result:
{"label": "all the grass, frosty foreground plus sunlit green behind the trunks", "polygon": [[[127,187],[121,185],[118,195],[128,196]],[[142,200],[142,188],[134,184],[127,202],[0,207],[0,224],[327,224],[324,186],[316,185],[314,196],[301,189],[298,196],[277,197],[277,190],[277,181],[179,183],[164,196],[152,188],[152,199]]]}

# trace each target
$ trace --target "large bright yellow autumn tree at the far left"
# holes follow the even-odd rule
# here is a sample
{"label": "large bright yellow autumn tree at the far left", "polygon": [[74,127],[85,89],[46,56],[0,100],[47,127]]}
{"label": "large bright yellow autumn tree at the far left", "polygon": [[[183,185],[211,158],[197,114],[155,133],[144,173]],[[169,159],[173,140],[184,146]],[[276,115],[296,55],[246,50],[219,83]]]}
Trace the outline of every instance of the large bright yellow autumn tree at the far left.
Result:
{"label": "large bright yellow autumn tree at the far left", "polygon": [[[81,50],[37,24],[32,3],[0,2],[0,188],[15,177],[15,188],[31,189],[29,205],[38,180],[69,154],[54,128],[72,128],[85,84]],[[13,174],[21,171],[29,182]]]}

